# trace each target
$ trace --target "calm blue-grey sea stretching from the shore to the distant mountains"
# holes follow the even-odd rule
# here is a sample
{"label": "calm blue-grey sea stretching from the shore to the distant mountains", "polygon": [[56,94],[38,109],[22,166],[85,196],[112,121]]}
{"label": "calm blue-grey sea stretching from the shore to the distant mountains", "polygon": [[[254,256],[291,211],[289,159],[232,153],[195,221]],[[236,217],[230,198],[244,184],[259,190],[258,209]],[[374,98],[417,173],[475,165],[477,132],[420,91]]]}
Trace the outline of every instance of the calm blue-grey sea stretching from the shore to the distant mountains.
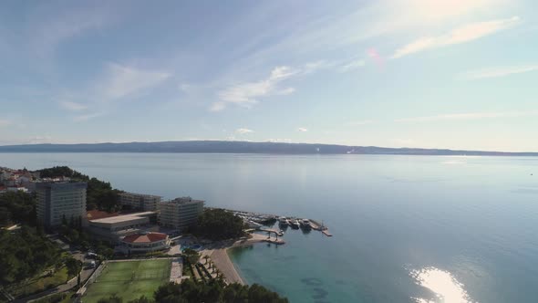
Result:
{"label": "calm blue-grey sea stretching from the shore to the distant mountains", "polygon": [[233,251],[244,279],[292,302],[538,301],[538,158],[0,153],[117,188],[323,220],[285,246]]}

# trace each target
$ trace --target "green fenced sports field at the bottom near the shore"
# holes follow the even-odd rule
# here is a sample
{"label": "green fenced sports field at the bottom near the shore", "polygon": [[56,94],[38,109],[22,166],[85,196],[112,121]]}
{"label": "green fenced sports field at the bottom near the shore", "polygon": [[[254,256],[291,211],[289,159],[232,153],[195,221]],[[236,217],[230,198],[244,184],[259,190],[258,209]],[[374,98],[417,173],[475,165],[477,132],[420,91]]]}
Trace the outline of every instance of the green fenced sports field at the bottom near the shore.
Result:
{"label": "green fenced sports field at the bottom near the shore", "polygon": [[160,285],[170,280],[171,260],[109,262],[88,286],[82,302],[96,303],[99,298],[116,294],[123,302],[144,295],[153,297]]}

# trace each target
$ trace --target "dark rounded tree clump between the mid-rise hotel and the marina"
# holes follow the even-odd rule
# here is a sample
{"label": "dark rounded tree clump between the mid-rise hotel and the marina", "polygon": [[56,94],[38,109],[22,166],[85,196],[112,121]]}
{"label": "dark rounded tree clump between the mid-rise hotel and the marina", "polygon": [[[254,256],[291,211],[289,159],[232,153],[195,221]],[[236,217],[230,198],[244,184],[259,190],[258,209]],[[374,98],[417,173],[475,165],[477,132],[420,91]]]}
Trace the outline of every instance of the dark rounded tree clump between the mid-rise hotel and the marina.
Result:
{"label": "dark rounded tree clump between the mid-rise hotel and the marina", "polygon": [[224,240],[244,235],[243,219],[223,209],[205,209],[198,218],[196,235],[211,240]]}

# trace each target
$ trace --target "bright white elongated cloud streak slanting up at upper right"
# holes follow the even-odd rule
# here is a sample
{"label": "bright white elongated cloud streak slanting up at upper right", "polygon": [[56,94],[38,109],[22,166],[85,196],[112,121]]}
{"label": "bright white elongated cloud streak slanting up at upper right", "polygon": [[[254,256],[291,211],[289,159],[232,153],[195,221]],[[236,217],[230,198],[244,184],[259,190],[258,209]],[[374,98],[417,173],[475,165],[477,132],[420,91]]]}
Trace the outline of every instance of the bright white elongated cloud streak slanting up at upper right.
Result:
{"label": "bright white elongated cloud streak slanting up at upper right", "polygon": [[398,48],[391,58],[408,56],[420,51],[445,47],[486,37],[503,29],[516,26],[521,23],[519,16],[508,19],[498,19],[485,22],[471,23],[451,30],[449,33],[437,37],[420,37],[419,39]]}

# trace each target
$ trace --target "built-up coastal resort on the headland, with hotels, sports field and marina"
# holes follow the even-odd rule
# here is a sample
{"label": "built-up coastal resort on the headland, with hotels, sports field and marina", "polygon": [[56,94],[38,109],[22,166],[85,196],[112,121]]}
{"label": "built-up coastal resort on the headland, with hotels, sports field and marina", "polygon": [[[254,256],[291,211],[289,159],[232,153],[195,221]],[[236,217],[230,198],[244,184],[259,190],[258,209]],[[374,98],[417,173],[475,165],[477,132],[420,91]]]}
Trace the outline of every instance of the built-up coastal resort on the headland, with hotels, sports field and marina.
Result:
{"label": "built-up coastal resort on the headland, with hotels, sports field and marina", "polygon": [[[91,191],[94,191],[96,181],[84,181],[89,178],[68,168],[62,170],[60,172],[65,171],[65,175],[59,175],[62,173],[58,172],[0,168],[0,194],[35,196],[36,226],[43,228],[49,241],[81,265],[78,274],[63,281],[65,283],[48,285],[33,293],[3,287],[0,296],[6,301],[45,302],[47,300],[44,298],[69,294],[71,300],[67,301],[98,302],[118,295],[117,288],[107,287],[116,282],[103,281],[109,276],[119,275],[124,270],[120,268],[126,264],[134,266],[124,270],[129,276],[130,286],[137,286],[138,275],[144,277],[144,281],[148,277],[155,279],[149,296],[165,282],[180,284],[185,280],[220,280],[225,285],[244,285],[227,249],[259,242],[283,245],[283,236],[288,228],[301,229],[305,233],[315,230],[332,236],[323,222],[295,216],[213,209],[204,207],[204,201],[191,197],[165,200],[159,195],[115,190],[116,192],[110,192],[117,194],[118,205],[115,207],[88,207],[90,197],[95,195]],[[199,226],[202,214],[211,212],[215,212],[218,217],[230,215],[228,221],[238,220],[239,234],[217,237],[211,230],[209,234],[192,233],[202,229]],[[7,219],[4,221],[7,222]],[[16,234],[21,226],[12,222],[2,229]],[[88,238],[80,240],[82,235],[88,235]],[[100,248],[96,249],[98,247]],[[136,268],[144,266],[152,269],[140,273],[136,271]],[[129,297],[129,294],[124,293],[123,296]]]}

